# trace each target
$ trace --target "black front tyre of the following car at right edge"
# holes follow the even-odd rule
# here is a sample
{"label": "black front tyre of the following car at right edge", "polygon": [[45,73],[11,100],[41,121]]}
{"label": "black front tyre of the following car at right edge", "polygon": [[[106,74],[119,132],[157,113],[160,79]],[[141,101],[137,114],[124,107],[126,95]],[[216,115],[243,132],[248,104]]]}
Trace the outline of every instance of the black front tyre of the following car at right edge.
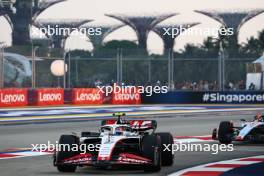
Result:
{"label": "black front tyre of the following car at right edge", "polygon": [[230,144],[233,136],[233,124],[229,121],[221,122],[218,129],[218,140],[221,144]]}

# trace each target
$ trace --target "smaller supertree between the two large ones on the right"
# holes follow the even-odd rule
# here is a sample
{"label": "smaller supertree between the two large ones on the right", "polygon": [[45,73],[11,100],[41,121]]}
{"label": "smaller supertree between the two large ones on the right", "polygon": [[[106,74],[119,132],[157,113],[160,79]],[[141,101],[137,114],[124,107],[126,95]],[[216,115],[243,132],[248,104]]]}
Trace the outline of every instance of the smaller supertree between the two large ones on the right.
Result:
{"label": "smaller supertree between the two large ones on the right", "polygon": [[[191,28],[191,27],[194,27],[196,25],[198,25],[200,23],[186,23],[186,24],[162,24],[162,25],[157,25],[153,31],[159,35],[159,37],[162,39],[163,41],[163,44],[164,44],[164,52],[165,51],[168,51],[169,49],[172,49],[174,48],[174,45],[175,45],[175,39],[181,35],[182,32],[184,32],[185,30]],[[168,30],[168,29],[176,29],[177,31],[179,31],[179,33],[175,34],[175,35],[172,35],[171,33],[170,34],[167,34],[165,32],[165,30]],[[171,31],[170,30],[170,31]]]}

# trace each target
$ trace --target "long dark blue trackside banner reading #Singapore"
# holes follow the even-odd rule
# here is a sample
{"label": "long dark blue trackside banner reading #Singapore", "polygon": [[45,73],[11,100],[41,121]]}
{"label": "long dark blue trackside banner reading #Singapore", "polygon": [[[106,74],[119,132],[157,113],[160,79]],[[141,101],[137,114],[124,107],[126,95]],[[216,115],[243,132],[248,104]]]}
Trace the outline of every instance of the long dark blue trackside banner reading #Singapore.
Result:
{"label": "long dark blue trackside banner reading #Singapore", "polygon": [[143,103],[172,103],[172,104],[264,104],[264,91],[209,91],[182,92],[170,91],[166,94],[142,96]]}

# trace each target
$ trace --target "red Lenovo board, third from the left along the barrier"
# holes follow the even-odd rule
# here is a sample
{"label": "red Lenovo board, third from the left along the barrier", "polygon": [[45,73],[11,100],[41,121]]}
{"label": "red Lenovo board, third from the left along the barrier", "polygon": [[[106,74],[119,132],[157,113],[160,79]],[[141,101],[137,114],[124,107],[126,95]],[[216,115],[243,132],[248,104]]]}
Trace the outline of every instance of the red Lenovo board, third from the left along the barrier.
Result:
{"label": "red Lenovo board, third from the left along the barrier", "polygon": [[103,104],[103,93],[96,88],[72,89],[72,104]]}

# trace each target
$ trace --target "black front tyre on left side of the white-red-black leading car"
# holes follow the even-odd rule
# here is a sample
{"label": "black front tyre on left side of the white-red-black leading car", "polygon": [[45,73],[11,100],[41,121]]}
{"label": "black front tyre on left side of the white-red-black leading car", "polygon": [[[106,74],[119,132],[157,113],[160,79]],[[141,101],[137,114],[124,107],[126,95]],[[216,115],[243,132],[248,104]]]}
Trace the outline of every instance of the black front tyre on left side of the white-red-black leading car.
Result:
{"label": "black front tyre on left side of the white-red-black leading car", "polygon": [[59,140],[59,144],[69,144],[69,151],[58,151],[56,154],[57,169],[60,172],[75,172],[77,166],[73,164],[60,164],[64,159],[73,157],[79,152],[72,151],[73,145],[78,145],[79,141],[76,136],[73,135],[62,135]]}

